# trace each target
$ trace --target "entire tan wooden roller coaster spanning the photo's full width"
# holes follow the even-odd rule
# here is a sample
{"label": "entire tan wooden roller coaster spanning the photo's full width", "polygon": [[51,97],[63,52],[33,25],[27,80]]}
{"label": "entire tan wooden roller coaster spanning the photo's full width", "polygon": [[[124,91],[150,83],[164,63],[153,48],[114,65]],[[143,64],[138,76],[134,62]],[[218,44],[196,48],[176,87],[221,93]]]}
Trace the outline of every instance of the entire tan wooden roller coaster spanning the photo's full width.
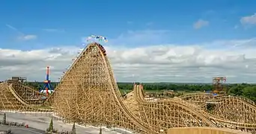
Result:
{"label": "entire tan wooden roller coaster spanning the photo's full width", "polygon": [[0,83],[0,110],[45,114],[61,118],[65,123],[126,133],[256,133],[255,102],[221,94],[219,83],[224,80],[225,77],[213,79],[217,95],[195,93],[176,98],[149,98],[142,84],[134,84],[133,91],[124,98],[105,48],[93,42],[74,60],[55,92],[47,98],[21,80]]}

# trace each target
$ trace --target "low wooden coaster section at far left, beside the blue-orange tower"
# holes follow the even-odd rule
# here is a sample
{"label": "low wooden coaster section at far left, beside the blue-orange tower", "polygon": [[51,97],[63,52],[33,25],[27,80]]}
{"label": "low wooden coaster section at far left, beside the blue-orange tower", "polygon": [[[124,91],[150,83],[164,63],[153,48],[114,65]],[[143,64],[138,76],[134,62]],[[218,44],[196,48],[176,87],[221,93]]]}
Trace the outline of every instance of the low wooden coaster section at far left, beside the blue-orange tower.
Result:
{"label": "low wooden coaster section at far left, beside the blue-orange tower", "polygon": [[0,109],[15,112],[51,112],[52,109],[46,109],[47,106],[43,105],[43,100],[33,99],[34,92],[16,81],[0,83]]}

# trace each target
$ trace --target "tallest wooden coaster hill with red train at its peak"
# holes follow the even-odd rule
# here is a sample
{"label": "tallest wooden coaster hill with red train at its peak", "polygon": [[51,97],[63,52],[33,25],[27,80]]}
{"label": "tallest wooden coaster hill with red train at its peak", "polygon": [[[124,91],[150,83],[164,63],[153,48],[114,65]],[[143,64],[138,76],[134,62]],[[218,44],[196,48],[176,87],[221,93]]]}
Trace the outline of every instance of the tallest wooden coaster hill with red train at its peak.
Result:
{"label": "tallest wooden coaster hill with red train at its peak", "polygon": [[156,133],[122,103],[106,51],[98,43],[88,45],[64,75],[52,106],[66,121]]}

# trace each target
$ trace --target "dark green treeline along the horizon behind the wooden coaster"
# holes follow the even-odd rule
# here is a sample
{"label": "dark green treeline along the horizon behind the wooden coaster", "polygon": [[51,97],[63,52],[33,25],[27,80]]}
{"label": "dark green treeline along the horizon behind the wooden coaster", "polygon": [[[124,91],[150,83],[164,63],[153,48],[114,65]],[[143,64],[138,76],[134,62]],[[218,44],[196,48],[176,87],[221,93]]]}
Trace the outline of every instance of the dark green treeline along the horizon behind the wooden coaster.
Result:
{"label": "dark green treeline along the horizon behind the wooden coaster", "polygon": [[[43,82],[27,82],[28,86],[34,89],[43,89]],[[58,83],[52,83],[55,88]],[[203,83],[143,83],[144,90],[151,92],[161,92],[163,90],[173,90],[174,92],[204,92],[212,91],[213,85]],[[225,84],[224,85],[228,95],[237,95],[249,98],[256,102],[256,85],[255,84]],[[133,83],[118,83],[118,88],[121,90],[132,90]]]}

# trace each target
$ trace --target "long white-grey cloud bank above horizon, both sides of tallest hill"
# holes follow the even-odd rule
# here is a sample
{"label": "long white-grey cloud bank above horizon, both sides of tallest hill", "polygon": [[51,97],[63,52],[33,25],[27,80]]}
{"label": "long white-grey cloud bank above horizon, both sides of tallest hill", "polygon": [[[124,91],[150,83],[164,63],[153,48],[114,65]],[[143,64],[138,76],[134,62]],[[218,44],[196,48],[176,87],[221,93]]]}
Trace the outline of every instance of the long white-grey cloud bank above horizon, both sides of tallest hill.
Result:
{"label": "long white-grey cloud bank above horizon, both sides of tallest hill", "polygon": [[[168,31],[129,31],[105,45],[118,81],[211,83],[226,76],[228,83],[255,83],[256,40],[219,40],[198,44],[154,44],[127,47],[115,44],[123,38],[156,41]],[[114,39],[113,39],[114,40]],[[127,43],[127,42],[125,42]],[[213,48],[213,46],[215,46]],[[0,79],[25,76],[44,80],[51,66],[51,80],[57,80],[81,48],[60,47],[32,51],[0,49]]]}

